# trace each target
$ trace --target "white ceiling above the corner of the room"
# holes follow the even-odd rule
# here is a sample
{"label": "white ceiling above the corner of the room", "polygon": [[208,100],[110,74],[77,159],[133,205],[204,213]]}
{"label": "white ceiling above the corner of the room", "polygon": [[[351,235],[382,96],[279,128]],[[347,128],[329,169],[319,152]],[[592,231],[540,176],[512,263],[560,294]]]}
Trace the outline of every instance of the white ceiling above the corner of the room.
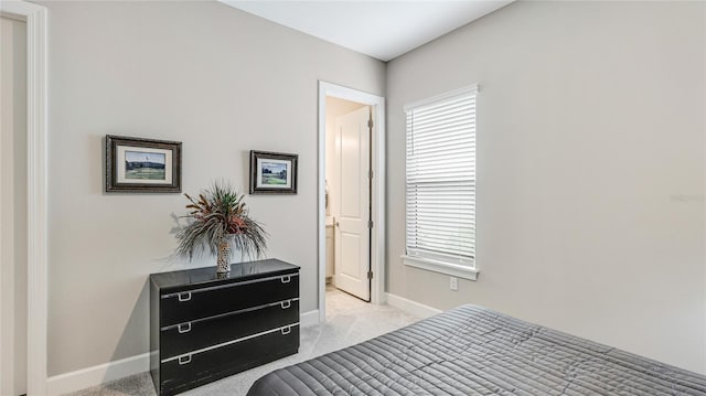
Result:
{"label": "white ceiling above the corner of the room", "polygon": [[514,0],[220,1],[381,61],[389,61]]}

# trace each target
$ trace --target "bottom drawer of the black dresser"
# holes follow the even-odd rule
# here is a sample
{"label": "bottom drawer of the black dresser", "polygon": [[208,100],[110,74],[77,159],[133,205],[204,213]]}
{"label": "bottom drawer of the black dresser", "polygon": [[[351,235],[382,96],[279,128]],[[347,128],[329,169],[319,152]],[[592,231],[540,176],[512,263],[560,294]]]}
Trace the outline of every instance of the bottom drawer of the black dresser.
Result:
{"label": "bottom drawer of the black dresser", "polygon": [[160,390],[173,395],[297,353],[298,350],[299,325],[292,325],[181,358],[162,361]]}

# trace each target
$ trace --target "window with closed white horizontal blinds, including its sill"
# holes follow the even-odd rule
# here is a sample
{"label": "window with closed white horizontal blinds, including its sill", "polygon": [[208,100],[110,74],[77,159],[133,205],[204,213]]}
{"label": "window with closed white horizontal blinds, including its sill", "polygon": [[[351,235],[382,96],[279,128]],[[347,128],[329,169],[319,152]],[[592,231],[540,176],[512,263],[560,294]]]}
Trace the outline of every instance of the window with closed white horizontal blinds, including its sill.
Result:
{"label": "window with closed white horizontal blinds, including its sill", "polygon": [[409,266],[475,279],[477,86],[405,106]]}

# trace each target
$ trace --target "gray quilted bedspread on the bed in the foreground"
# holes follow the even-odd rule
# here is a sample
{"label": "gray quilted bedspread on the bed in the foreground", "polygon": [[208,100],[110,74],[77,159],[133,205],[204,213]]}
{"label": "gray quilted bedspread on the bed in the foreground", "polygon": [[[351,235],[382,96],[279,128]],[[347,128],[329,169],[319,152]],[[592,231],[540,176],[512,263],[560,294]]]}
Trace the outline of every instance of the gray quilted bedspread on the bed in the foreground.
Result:
{"label": "gray quilted bedspread on the bed in the foreground", "polygon": [[475,306],[259,378],[248,396],[703,395],[706,376]]}

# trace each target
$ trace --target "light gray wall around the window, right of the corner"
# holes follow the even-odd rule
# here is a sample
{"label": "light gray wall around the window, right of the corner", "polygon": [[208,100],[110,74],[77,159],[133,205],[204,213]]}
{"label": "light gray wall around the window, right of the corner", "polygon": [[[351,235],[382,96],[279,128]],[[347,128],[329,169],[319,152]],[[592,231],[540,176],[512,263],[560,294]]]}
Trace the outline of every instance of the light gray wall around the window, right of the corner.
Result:
{"label": "light gray wall around the window, right of the corner", "polygon": [[[394,295],[706,373],[703,2],[518,2],[388,64]],[[405,267],[403,105],[478,98],[477,282]]]}

